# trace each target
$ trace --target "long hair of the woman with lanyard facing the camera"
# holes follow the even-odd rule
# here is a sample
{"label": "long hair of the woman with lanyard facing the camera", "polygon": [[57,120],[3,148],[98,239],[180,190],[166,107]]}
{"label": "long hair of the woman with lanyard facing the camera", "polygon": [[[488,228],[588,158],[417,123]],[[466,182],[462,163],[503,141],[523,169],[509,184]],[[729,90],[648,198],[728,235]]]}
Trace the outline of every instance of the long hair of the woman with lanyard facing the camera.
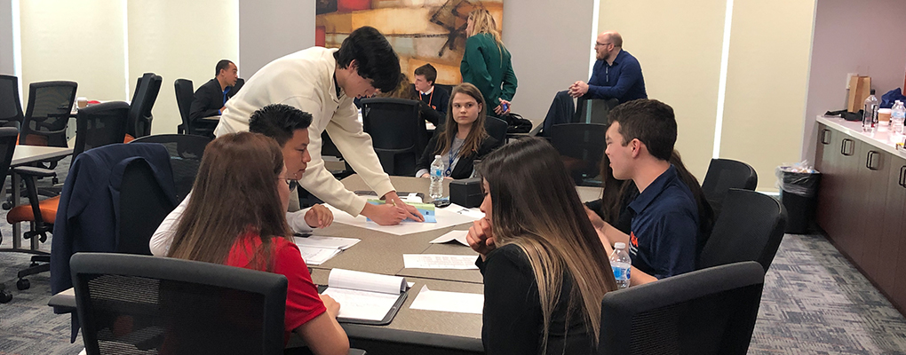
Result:
{"label": "long hair of the woman with lanyard facing the camera", "polygon": [[487,131],[485,130],[487,104],[485,103],[485,97],[481,95],[481,91],[475,85],[463,82],[450,91],[450,100],[447,104],[447,122],[444,123],[444,131],[440,133],[438,147],[434,154],[448,152],[453,145],[453,139],[456,138],[456,134],[459,131],[459,124],[456,120],[453,120],[453,99],[456,98],[458,93],[468,95],[481,105],[481,110],[478,110],[478,117],[472,122],[472,129],[468,130],[466,141],[462,144],[462,148],[459,149],[458,157],[462,158],[477,154],[478,149],[481,149],[481,142],[487,137]]}

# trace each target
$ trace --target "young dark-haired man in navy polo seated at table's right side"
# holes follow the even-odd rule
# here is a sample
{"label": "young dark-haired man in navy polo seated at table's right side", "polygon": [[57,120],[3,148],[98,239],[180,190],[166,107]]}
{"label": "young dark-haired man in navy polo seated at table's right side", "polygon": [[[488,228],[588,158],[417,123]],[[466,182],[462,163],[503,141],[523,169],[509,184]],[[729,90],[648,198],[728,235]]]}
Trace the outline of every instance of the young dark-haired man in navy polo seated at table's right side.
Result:
{"label": "young dark-haired man in navy polo seated at table's right side", "polygon": [[604,153],[613,177],[631,178],[640,195],[627,208],[632,216],[628,238],[609,234],[602,239],[629,243],[632,285],[695,270],[699,209],[669,161],[677,139],[673,109],[645,99],[617,106],[609,116]]}

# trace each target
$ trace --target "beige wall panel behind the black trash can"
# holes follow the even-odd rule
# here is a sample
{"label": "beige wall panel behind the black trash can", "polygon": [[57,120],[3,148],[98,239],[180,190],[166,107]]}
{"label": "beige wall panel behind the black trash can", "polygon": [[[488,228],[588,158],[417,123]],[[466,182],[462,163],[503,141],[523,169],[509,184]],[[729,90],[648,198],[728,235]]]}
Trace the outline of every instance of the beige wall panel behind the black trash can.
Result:
{"label": "beige wall panel behind the black trash can", "polygon": [[814,1],[733,5],[720,157],[755,168],[759,190],[800,158],[813,20]]}

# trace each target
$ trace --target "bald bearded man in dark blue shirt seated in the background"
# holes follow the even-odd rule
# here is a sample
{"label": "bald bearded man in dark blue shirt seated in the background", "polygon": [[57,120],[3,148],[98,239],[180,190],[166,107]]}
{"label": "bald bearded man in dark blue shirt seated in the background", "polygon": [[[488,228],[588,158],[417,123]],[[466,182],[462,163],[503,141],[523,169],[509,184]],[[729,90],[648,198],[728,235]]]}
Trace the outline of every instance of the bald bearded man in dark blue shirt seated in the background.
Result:
{"label": "bald bearded man in dark blue shirt seated in the background", "polygon": [[557,92],[545,117],[545,130],[555,124],[573,121],[573,98],[615,100],[619,103],[648,99],[641,65],[629,52],[622,50],[622,36],[608,31],[598,34],[594,43],[592,78],[573,82],[569,90]]}

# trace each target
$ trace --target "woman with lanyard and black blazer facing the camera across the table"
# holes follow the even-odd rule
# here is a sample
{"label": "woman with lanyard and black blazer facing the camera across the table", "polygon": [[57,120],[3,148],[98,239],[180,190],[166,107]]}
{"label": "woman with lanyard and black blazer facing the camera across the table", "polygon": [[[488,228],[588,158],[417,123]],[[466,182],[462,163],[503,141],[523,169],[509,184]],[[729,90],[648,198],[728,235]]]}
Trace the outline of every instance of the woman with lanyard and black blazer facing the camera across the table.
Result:
{"label": "woman with lanyard and black blazer facing the camera across the table", "polygon": [[435,156],[440,156],[444,162],[444,177],[472,177],[473,161],[499,145],[497,139],[485,131],[485,108],[485,99],[475,85],[463,82],[453,88],[444,127],[435,130],[428,141],[415,165],[415,176],[429,177],[431,162]]}

